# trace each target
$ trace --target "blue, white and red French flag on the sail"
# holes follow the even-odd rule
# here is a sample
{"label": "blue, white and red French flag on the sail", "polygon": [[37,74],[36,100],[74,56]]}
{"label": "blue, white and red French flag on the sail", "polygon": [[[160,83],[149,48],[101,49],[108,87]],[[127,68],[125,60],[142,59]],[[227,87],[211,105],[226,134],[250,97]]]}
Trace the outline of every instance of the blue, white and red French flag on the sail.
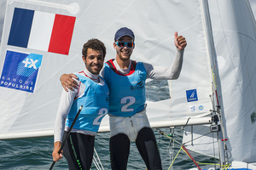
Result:
{"label": "blue, white and red French flag on the sail", "polygon": [[15,8],[8,45],[69,53],[75,17]]}

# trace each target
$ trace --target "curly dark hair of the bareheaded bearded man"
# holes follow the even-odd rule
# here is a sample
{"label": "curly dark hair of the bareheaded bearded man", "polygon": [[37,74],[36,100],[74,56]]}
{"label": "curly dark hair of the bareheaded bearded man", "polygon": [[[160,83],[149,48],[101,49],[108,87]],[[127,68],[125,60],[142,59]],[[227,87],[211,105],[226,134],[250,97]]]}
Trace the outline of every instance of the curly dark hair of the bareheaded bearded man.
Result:
{"label": "curly dark hair of the bareheaded bearded man", "polygon": [[82,54],[84,55],[84,57],[87,56],[88,48],[91,48],[91,49],[96,50],[96,51],[101,51],[102,50],[103,57],[105,58],[106,47],[105,47],[104,43],[101,42],[100,40],[98,40],[96,38],[92,38],[92,39],[88,40],[88,42],[84,43],[84,47],[82,49]]}

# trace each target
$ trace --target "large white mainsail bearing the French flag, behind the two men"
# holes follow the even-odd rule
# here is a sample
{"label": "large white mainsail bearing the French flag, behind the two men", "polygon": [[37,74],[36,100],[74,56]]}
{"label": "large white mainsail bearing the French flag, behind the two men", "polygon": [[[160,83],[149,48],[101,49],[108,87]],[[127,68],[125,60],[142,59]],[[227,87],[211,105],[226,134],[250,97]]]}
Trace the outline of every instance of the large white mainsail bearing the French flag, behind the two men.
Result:
{"label": "large white mainsail bearing the French flag, behind the two men", "polygon": [[[150,122],[154,124],[154,122],[163,120],[167,122],[180,118],[185,120],[191,116],[205,116],[209,113],[212,108],[209,98],[212,93],[212,73],[207,57],[205,37],[202,34],[203,24],[198,1],[187,0],[180,3],[172,1],[131,1],[130,3],[83,1],[78,3],[80,10],[76,14],[57,5],[58,3],[68,5],[68,1],[56,0],[44,3],[47,2],[54,3],[55,6],[49,8],[47,5],[29,3],[29,1],[9,1],[6,8],[0,60],[1,74],[7,50],[21,54],[42,54],[43,59],[38,69],[33,93],[0,87],[0,100],[2,101],[0,114],[3,117],[0,123],[0,137],[2,139],[5,139],[5,134],[11,133],[22,133],[26,137],[26,132],[28,136],[28,133],[37,131],[51,132],[61,95],[59,77],[63,73],[84,69],[81,49],[84,42],[90,38],[99,38],[106,44],[106,60],[114,58],[113,35],[121,26],[131,28],[136,34],[136,48],[132,59],[153,65],[169,66],[172,64],[176,53],[173,42],[175,31],[186,37],[189,43],[185,49],[183,71],[177,80],[164,83],[155,80],[147,82]],[[125,8],[123,8],[123,3],[127,4]],[[8,45],[15,8],[76,17],[69,54],[64,56]],[[170,90],[169,87],[171,87]],[[167,93],[163,88],[167,89]],[[150,90],[156,94],[150,96]],[[196,94],[197,97],[188,102],[191,94],[186,94],[186,91]],[[108,116],[104,118],[101,129],[108,129]]]}

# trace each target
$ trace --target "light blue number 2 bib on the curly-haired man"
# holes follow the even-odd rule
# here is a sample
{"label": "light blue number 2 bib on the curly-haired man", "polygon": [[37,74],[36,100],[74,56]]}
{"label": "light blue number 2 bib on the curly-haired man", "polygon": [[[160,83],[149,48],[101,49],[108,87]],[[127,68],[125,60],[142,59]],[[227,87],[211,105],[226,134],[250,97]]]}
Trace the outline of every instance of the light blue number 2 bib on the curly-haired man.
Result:
{"label": "light blue number 2 bib on the curly-haired man", "polygon": [[73,128],[98,132],[102,118],[108,114],[108,85],[105,81],[105,84],[102,86],[93,82],[88,77],[83,77],[79,74],[76,74],[76,76],[79,77],[79,81],[84,83],[85,89],[83,96],[73,101],[67,116],[66,126],[71,127],[79,107],[83,105],[83,110],[80,112]]}

